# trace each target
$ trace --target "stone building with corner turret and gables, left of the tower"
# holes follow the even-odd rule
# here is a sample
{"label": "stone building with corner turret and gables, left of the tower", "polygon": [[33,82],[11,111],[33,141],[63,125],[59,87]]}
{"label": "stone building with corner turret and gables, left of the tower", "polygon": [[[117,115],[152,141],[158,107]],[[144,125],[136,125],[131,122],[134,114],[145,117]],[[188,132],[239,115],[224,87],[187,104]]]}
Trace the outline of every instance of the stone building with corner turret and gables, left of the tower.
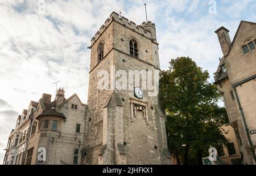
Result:
{"label": "stone building with corner turret and gables, left of the tower", "polygon": [[18,116],[3,164],[81,164],[86,105],[59,89],[55,101],[43,94]]}

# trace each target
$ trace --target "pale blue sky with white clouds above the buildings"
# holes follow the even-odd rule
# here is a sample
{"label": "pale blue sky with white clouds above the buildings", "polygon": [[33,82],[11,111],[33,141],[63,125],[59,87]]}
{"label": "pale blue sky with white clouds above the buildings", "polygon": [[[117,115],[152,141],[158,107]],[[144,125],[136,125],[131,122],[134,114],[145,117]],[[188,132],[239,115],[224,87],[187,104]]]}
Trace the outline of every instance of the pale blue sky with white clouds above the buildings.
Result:
{"label": "pale blue sky with white clouds above the buildings", "polygon": [[[214,31],[224,25],[230,37],[241,20],[255,22],[255,0],[1,0],[0,1],[0,164],[15,120],[30,100],[55,94],[61,80],[66,97],[87,102],[90,39],[112,11],[137,24],[156,24],[162,69],[171,58],[189,56],[213,73],[221,57]],[[214,12],[214,11],[213,11]]]}

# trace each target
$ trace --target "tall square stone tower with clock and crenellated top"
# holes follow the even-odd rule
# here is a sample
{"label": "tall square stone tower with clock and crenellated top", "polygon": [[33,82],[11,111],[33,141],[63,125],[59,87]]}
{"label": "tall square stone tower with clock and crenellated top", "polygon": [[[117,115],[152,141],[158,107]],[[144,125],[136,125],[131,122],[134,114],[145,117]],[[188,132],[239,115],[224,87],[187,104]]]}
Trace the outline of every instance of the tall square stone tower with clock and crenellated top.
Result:
{"label": "tall square stone tower with clock and crenellated top", "polygon": [[[158,96],[149,96],[152,91],[142,87],[144,74],[160,70],[155,24],[136,25],[112,12],[92,38],[90,49],[82,163],[171,164],[166,117],[159,108]],[[118,79],[121,70],[127,83],[129,71],[142,71],[140,84],[132,81],[132,89],[128,85],[115,89],[110,77]],[[102,71],[109,74],[109,87],[105,89],[98,88]],[[151,76],[151,82],[154,78]]]}

